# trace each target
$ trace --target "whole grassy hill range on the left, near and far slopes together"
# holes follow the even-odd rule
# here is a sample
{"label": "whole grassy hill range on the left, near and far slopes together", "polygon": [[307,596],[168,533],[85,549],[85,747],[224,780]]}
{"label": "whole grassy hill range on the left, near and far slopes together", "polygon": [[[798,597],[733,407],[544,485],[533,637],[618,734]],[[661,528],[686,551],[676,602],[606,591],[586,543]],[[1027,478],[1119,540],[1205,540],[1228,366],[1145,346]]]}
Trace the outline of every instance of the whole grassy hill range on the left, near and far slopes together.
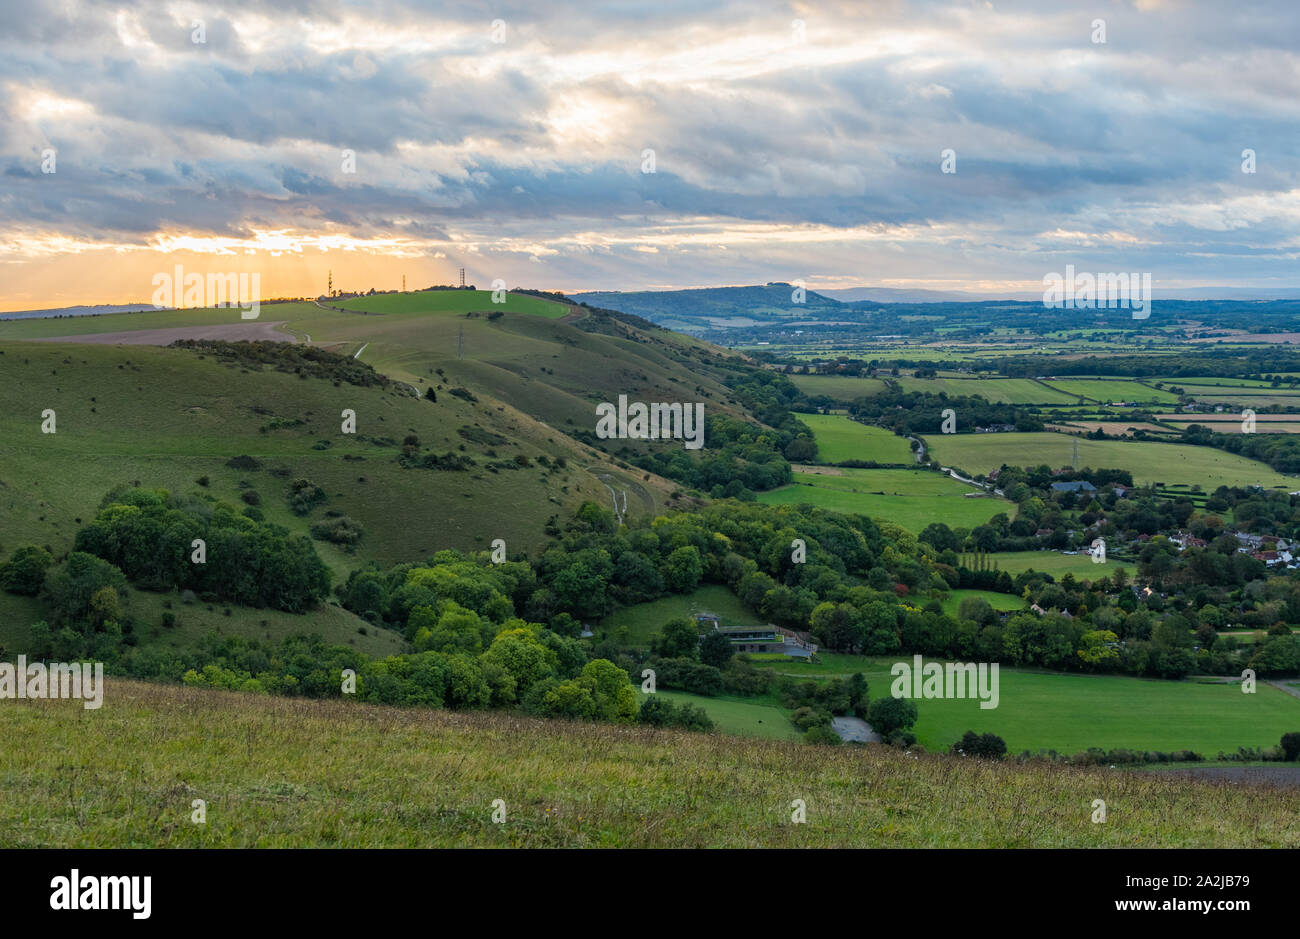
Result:
{"label": "whole grassy hill range on the left, near and far slopes together", "polygon": [[[354,312],[266,304],[255,325],[282,321],[286,339],[309,337],[393,381],[358,386],[202,350],[75,343],[104,334],[129,341],[142,330],[165,343],[170,329],[248,328],[237,310],[0,323],[0,389],[9,404],[0,415],[0,553],[26,541],[66,550],[77,519],[88,519],[110,486],[135,480],[234,503],[252,489],[269,520],[306,531],[311,519],[286,507],[289,477],[322,486],[326,509],[365,529],[355,555],[322,546],[335,572],[441,548],[485,549],[497,537],[511,551],[536,548],[547,518],[586,499],[608,505],[611,485],[633,512],[663,509],[676,489],[571,436],[594,441],[601,401],[703,401],[711,414],[742,414],[722,384],[733,359],[649,324],[528,294],[493,304],[489,291],[471,290],[339,304]],[[10,342],[57,337],[70,342]],[[437,403],[420,397],[428,389]],[[53,434],[40,433],[47,408],[56,412]],[[355,434],[341,433],[344,408],[356,412]],[[398,459],[408,436],[424,453],[456,453],[474,466],[404,468]],[[681,447],[611,443],[627,454]],[[228,467],[237,455],[263,466]]]}

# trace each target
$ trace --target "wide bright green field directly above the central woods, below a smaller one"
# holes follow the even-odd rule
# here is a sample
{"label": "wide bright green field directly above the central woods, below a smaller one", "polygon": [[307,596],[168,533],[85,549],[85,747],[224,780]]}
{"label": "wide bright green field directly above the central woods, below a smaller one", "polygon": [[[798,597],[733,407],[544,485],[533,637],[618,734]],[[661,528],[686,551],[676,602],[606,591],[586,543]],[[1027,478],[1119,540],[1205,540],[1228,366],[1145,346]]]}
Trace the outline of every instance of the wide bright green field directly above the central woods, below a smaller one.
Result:
{"label": "wide bright green field directly above the central woods, below a smaller one", "polygon": [[974,528],[998,512],[1015,515],[1015,506],[993,497],[967,498],[978,492],[965,483],[924,469],[853,469],[842,475],[796,473],[796,481],[758,494],[768,505],[807,502],[837,512],[887,519],[910,532],[932,522]]}

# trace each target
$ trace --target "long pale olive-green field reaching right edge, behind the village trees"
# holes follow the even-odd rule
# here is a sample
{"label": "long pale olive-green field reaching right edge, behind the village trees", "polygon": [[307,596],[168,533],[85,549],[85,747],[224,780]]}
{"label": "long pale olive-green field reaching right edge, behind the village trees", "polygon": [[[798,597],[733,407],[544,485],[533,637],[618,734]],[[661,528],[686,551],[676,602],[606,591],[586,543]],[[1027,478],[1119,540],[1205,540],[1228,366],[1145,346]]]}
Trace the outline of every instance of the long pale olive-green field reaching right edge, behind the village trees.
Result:
{"label": "long pale olive-green field reaching right edge, behind the village trees", "polygon": [[1079,446],[1082,467],[1128,469],[1134,483],[1187,485],[1260,485],[1296,489],[1296,479],[1274,472],[1264,463],[1206,446],[1149,441],[1087,440],[1062,433],[958,433],[927,438],[932,455],[944,466],[983,475],[1008,466],[1071,466]]}

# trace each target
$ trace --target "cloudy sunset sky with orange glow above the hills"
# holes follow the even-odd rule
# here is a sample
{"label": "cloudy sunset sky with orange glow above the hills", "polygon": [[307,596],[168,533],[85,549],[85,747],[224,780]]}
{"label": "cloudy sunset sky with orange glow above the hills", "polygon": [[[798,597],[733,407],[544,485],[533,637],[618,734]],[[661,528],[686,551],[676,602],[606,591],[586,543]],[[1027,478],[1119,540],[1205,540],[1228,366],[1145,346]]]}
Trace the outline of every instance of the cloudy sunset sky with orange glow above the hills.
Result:
{"label": "cloudy sunset sky with orange glow above the hills", "polygon": [[1300,3],[594,7],[0,0],[0,310],[1300,286]]}

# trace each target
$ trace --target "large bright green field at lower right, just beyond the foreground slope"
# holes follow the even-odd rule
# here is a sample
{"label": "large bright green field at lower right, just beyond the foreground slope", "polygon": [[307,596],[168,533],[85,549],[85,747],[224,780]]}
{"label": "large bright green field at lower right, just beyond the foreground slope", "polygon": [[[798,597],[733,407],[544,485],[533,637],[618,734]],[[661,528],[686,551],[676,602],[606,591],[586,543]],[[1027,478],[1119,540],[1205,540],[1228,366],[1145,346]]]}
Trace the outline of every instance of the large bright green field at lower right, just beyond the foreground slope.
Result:
{"label": "large bright green field at lower right, just beyond the foreground slope", "polygon": [[[822,663],[776,662],[763,667],[788,675],[848,676],[861,671],[871,698],[889,694],[890,666],[910,655],[867,658],[819,654]],[[928,661],[928,659],[927,659]],[[755,663],[758,657],[755,657]],[[814,671],[815,670],[815,671]],[[1117,675],[1065,675],[998,670],[998,705],[978,700],[916,701],[916,739],[931,750],[948,749],[968,730],[997,734],[1009,753],[1054,749],[1074,754],[1089,747],[1140,750],[1191,749],[1213,758],[1238,747],[1275,747],[1300,728],[1300,698],[1261,683],[1254,694],[1238,685],[1161,681]]]}

